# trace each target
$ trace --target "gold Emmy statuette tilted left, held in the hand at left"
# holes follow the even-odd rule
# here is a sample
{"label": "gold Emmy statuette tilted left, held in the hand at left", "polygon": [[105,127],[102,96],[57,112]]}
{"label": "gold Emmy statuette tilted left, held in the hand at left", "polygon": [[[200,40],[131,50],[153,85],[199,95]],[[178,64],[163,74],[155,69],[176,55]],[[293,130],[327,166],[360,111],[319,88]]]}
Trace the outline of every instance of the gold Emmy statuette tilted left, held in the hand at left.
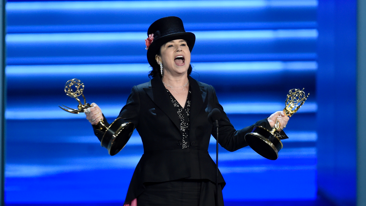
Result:
{"label": "gold Emmy statuette tilted left, held in the hand at left", "polygon": [[[73,90],[76,89],[75,91]],[[86,103],[85,96],[83,95],[84,84],[78,79],[72,79],[66,82],[65,92],[67,96],[75,98],[79,105],[78,109],[73,109],[67,106],[60,107],[64,111],[73,114],[85,113],[86,109],[91,107],[89,103]],[[84,104],[81,103],[78,96],[82,96],[84,99]],[[101,119],[96,125],[98,130],[104,132],[104,135],[100,141],[102,147],[108,150],[108,154],[115,155],[123,149],[127,141],[130,139],[134,128],[132,122],[124,122],[122,118],[117,118],[108,127],[104,124]]]}

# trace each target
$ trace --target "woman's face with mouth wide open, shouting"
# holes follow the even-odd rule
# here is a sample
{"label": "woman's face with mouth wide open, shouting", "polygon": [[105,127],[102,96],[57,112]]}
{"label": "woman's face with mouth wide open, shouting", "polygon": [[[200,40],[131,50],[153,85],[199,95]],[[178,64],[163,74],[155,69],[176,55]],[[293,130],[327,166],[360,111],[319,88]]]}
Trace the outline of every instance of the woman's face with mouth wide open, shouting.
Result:
{"label": "woman's face with mouth wide open, shouting", "polygon": [[163,74],[172,75],[187,73],[191,63],[191,52],[183,39],[169,41],[160,47],[157,63],[163,63]]}

